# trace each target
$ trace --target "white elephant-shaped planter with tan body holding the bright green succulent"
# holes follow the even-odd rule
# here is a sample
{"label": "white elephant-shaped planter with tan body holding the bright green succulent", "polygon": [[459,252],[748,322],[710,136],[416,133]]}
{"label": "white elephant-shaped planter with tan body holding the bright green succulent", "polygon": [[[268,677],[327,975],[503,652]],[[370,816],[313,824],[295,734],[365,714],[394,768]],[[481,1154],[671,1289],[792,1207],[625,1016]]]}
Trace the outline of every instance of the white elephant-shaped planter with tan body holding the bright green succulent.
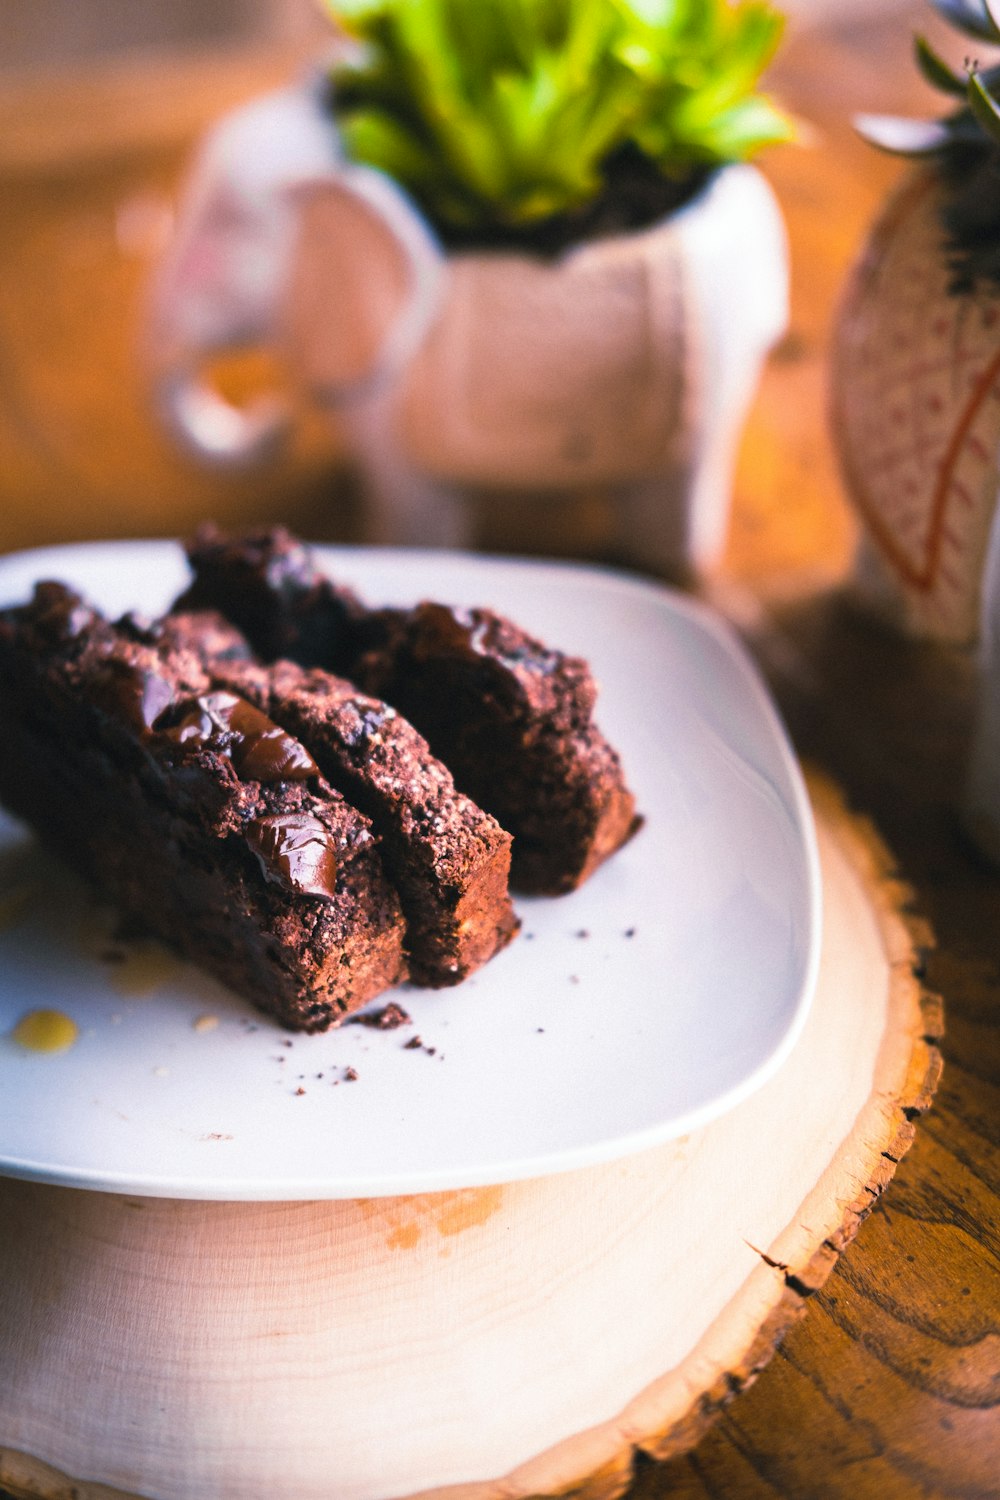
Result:
{"label": "white elephant-shaped planter with tan body holding the bright green succulent", "polygon": [[720,171],[661,224],[558,260],[445,255],[382,174],[346,164],[319,92],[229,116],[207,140],[153,297],[162,410],[220,462],[286,423],[199,380],[267,342],[336,406],[372,540],[462,546],[471,501],[601,494],[616,550],[708,567],[762,360],[787,316],[783,222],[754,168]]}

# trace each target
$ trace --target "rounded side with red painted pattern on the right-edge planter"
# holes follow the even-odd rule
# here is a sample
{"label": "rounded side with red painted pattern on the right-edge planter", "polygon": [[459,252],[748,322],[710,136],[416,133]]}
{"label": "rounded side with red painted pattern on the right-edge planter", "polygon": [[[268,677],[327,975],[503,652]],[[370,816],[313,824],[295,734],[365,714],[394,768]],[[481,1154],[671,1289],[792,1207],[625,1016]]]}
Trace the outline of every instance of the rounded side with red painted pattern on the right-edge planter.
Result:
{"label": "rounded side with red painted pattern on the right-edge planter", "polygon": [[840,315],[832,418],[885,561],[927,610],[958,620],[996,504],[1000,314],[996,296],[948,294],[936,189],[916,174],[873,231]]}

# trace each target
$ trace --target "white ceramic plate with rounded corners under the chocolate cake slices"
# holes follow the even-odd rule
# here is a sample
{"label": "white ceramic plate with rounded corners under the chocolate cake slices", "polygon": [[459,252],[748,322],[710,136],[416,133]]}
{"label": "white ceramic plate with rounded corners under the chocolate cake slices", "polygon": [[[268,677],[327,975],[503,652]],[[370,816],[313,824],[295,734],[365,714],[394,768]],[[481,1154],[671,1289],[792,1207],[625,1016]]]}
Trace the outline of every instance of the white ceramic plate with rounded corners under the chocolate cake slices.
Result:
{"label": "white ceramic plate with rounded corners under the chocolate cake slices", "polygon": [[[234,1200],[514,1180],[684,1134],[790,1052],[817,968],[814,832],[730,632],[594,568],[324,555],[372,602],[490,604],[586,656],[645,828],[580,891],[520,900],[522,936],[465,984],[396,992],[412,1026],[301,1036],[195,969],[114,940],[94,897],[4,819],[0,1172]],[[171,543],[21,554],[0,561],[0,600],[39,578],[109,612],[159,612],[186,566]],[[18,1046],[12,1030],[34,1008],[69,1014],[75,1046]]]}

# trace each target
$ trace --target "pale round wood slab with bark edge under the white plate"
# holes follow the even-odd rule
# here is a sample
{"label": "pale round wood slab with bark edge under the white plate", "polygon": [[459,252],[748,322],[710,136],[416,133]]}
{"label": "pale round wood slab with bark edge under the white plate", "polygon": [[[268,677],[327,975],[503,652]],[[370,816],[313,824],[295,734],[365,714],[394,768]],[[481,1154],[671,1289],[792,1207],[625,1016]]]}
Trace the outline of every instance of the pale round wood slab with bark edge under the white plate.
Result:
{"label": "pale round wood slab with bark edge under the white plate", "polygon": [[502,1186],[328,1203],[0,1180],[0,1486],[45,1500],[610,1500],[766,1365],[940,1071],[930,942],[813,780],[823,957],[711,1125]]}

